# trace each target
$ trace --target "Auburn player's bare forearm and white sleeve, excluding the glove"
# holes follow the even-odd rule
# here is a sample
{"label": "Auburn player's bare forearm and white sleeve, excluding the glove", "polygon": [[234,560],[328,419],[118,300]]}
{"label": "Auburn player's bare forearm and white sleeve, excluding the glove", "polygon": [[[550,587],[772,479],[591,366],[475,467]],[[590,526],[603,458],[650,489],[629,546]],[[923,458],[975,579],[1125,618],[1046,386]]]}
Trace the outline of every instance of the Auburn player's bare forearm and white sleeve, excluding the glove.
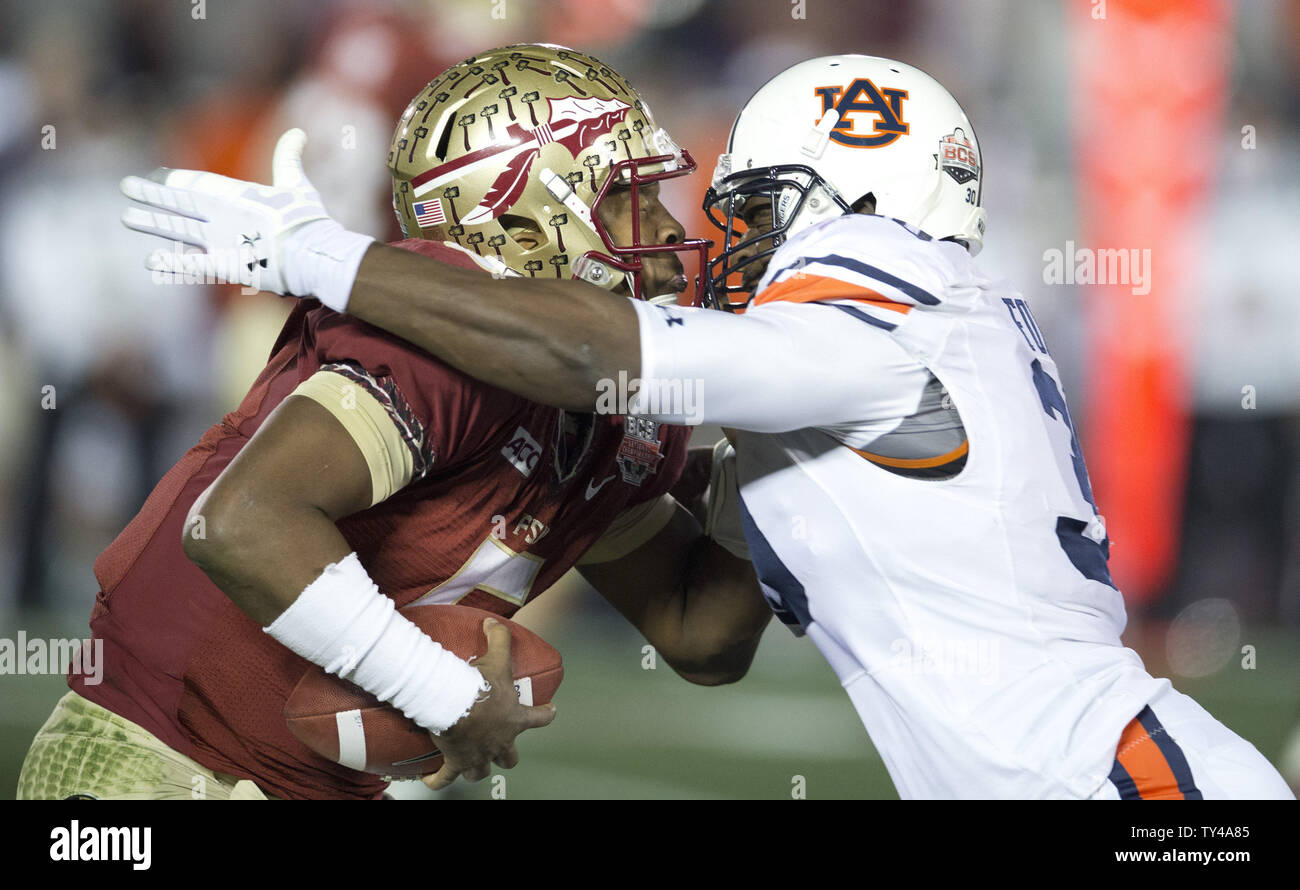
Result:
{"label": "Auburn player's bare forearm and white sleeve, excluding the glove", "polygon": [[598,411],[620,374],[638,381],[633,409],[670,424],[781,433],[915,411],[915,387],[900,383],[919,365],[863,313],[831,305],[658,307],[374,246],[347,312],[471,377],[573,411]]}

